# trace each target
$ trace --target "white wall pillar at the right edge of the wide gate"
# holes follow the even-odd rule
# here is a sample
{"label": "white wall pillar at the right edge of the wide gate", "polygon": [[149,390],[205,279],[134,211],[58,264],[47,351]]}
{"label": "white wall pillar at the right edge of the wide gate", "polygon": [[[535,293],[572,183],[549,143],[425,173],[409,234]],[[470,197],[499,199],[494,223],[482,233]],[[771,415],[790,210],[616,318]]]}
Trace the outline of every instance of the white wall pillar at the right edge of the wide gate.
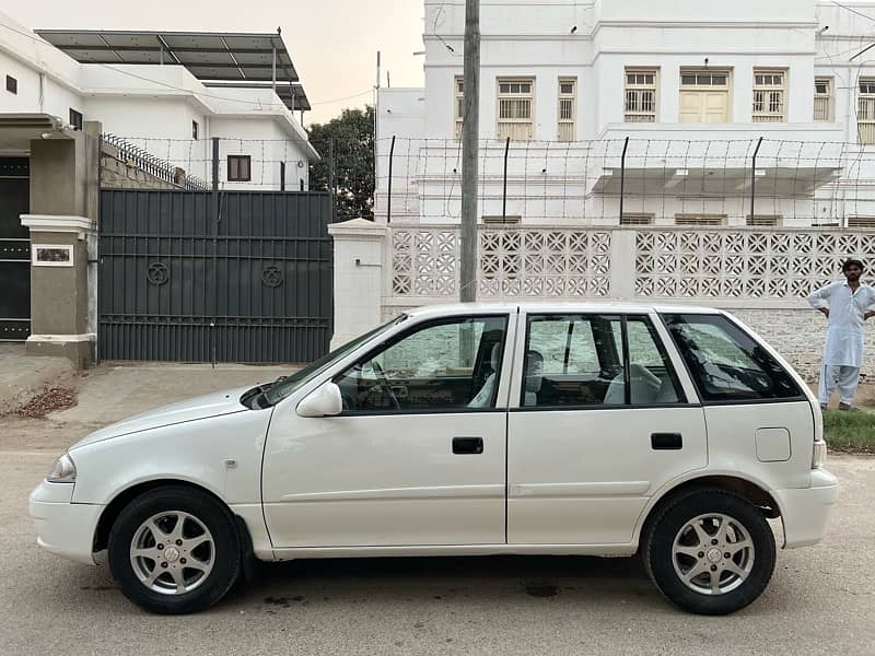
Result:
{"label": "white wall pillar at the right edge of the wide gate", "polygon": [[328,226],[335,241],[335,333],[331,349],[383,320],[386,227],[365,219]]}

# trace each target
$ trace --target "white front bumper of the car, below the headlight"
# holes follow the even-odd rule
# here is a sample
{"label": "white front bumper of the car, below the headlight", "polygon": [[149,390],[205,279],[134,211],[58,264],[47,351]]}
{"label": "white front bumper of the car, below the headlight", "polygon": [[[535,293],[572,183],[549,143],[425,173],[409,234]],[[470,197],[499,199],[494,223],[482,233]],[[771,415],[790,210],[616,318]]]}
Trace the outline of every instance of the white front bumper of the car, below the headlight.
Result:
{"label": "white front bumper of the car, below the headlight", "polygon": [[36,542],[46,551],[93,565],[94,531],[103,506],[71,503],[73,484],[43,481],[31,492]]}

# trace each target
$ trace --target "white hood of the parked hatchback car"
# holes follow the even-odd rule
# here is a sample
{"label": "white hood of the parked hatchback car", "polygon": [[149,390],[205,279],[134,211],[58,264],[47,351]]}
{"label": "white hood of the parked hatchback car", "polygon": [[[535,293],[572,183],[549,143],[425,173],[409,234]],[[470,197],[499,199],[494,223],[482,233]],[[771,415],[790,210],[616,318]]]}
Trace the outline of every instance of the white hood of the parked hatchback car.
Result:
{"label": "white hood of the parked hatchback car", "polygon": [[252,389],[252,386],[217,391],[135,414],[91,433],[85,438],[77,442],[70,449],[150,429],[160,429],[161,426],[231,414],[233,412],[245,412],[247,408],[240,402],[240,398],[247,389]]}

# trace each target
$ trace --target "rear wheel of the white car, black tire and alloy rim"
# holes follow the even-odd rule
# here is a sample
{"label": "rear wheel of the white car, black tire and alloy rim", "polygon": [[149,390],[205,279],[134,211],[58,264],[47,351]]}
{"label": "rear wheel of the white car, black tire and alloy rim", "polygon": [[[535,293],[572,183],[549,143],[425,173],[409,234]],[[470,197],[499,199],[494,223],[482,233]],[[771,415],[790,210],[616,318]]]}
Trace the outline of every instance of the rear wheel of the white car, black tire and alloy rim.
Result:
{"label": "rear wheel of the white car, black tire and alloy rim", "polygon": [[[645,536],[644,565],[669,601],[693,613],[728,614],[766,589],[774,571],[774,536],[751,503],[724,490],[698,489],[657,512]],[[695,523],[703,531],[700,534],[691,523],[702,516]],[[728,538],[720,531],[724,525]],[[748,542],[750,548],[744,547]],[[681,575],[689,576],[689,582]]]}

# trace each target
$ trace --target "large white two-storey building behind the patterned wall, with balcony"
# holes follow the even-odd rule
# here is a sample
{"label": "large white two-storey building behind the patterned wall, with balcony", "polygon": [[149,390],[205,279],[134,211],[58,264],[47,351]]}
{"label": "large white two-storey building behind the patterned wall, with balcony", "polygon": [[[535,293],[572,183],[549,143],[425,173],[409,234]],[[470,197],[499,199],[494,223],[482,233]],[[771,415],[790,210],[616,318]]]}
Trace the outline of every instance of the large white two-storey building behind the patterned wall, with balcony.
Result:
{"label": "large white two-storey building behind the patterned wall, with balcony", "polygon": [[[487,221],[875,224],[875,3],[480,11]],[[464,19],[464,0],[425,2],[424,89],[380,90],[377,220],[395,137],[392,222],[458,222]]]}

